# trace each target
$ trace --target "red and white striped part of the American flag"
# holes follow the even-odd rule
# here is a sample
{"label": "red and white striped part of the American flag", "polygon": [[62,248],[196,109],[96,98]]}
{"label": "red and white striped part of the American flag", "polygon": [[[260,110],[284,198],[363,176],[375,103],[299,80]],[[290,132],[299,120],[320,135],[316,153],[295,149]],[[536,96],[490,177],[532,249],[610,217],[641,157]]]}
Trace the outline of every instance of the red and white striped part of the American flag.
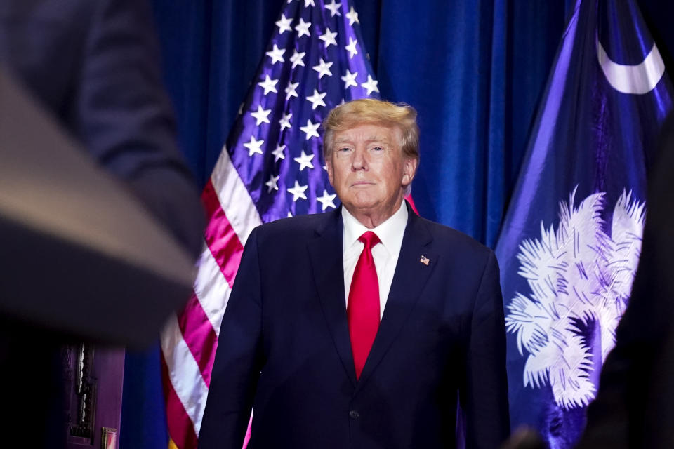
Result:
{"label": "red and white striped part of the American flag", "polygon": [[194,293],[161,334],[161,368],[171,442],[196,449],[211,384],[220,321],[246,239],[260,215],[226,149],[201,193],[208,225]]}

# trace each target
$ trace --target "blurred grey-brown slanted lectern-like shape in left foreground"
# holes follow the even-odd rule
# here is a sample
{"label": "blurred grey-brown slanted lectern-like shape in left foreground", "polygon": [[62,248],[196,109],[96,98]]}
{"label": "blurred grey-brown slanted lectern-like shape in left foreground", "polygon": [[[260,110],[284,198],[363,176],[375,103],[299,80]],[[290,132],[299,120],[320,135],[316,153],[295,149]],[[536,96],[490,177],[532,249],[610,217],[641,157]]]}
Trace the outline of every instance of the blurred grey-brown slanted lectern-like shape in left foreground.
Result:
{"label": "blurred grey-brown slanted lectern-like shape in left foreground", "polygon": [[190,295],[189,253],[1,70],[0,98],[0,313],[151,344]]}

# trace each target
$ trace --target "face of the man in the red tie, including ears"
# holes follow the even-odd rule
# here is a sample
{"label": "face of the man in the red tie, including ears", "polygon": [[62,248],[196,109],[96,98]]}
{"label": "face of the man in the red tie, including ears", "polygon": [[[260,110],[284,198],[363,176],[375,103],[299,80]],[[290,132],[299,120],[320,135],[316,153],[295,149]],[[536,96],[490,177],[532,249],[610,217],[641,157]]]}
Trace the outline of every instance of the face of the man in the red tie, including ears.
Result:
{"label": "face of the man in the red tie, including ears", "polygon": [[368,227],[395,213],[414,177],[417,161],[402,155],[401,140],[399,128],[374,124],[333,134],[326,161],[330,184],[345,208]]}

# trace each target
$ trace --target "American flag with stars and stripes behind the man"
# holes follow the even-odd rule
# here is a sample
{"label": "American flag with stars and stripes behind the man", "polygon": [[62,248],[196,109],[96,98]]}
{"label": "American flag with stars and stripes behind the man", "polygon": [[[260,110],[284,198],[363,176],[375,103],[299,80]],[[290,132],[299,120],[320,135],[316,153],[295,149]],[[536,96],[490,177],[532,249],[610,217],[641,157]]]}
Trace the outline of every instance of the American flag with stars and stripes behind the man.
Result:
{"label": "American flag with stars and stripes behind the man", "polygon": [[196,448],[220,321],[254,227],[338,206],[319,126],[378,94],[349,0],[289,0],[201,199],[209,224],[194,294],[161,335],[171,448]]}

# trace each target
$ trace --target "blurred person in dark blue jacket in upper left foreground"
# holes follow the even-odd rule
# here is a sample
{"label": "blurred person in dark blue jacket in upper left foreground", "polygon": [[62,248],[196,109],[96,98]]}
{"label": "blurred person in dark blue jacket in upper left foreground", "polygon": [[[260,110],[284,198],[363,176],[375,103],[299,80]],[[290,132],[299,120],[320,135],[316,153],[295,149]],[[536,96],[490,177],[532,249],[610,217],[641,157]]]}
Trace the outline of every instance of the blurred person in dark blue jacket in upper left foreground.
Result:
{"label": "blurred person in dark blue jacket in upper left foreground", "polygon": [[204,213],[153,32],[145,0],[3,0],[0,66],[197,255]]}

